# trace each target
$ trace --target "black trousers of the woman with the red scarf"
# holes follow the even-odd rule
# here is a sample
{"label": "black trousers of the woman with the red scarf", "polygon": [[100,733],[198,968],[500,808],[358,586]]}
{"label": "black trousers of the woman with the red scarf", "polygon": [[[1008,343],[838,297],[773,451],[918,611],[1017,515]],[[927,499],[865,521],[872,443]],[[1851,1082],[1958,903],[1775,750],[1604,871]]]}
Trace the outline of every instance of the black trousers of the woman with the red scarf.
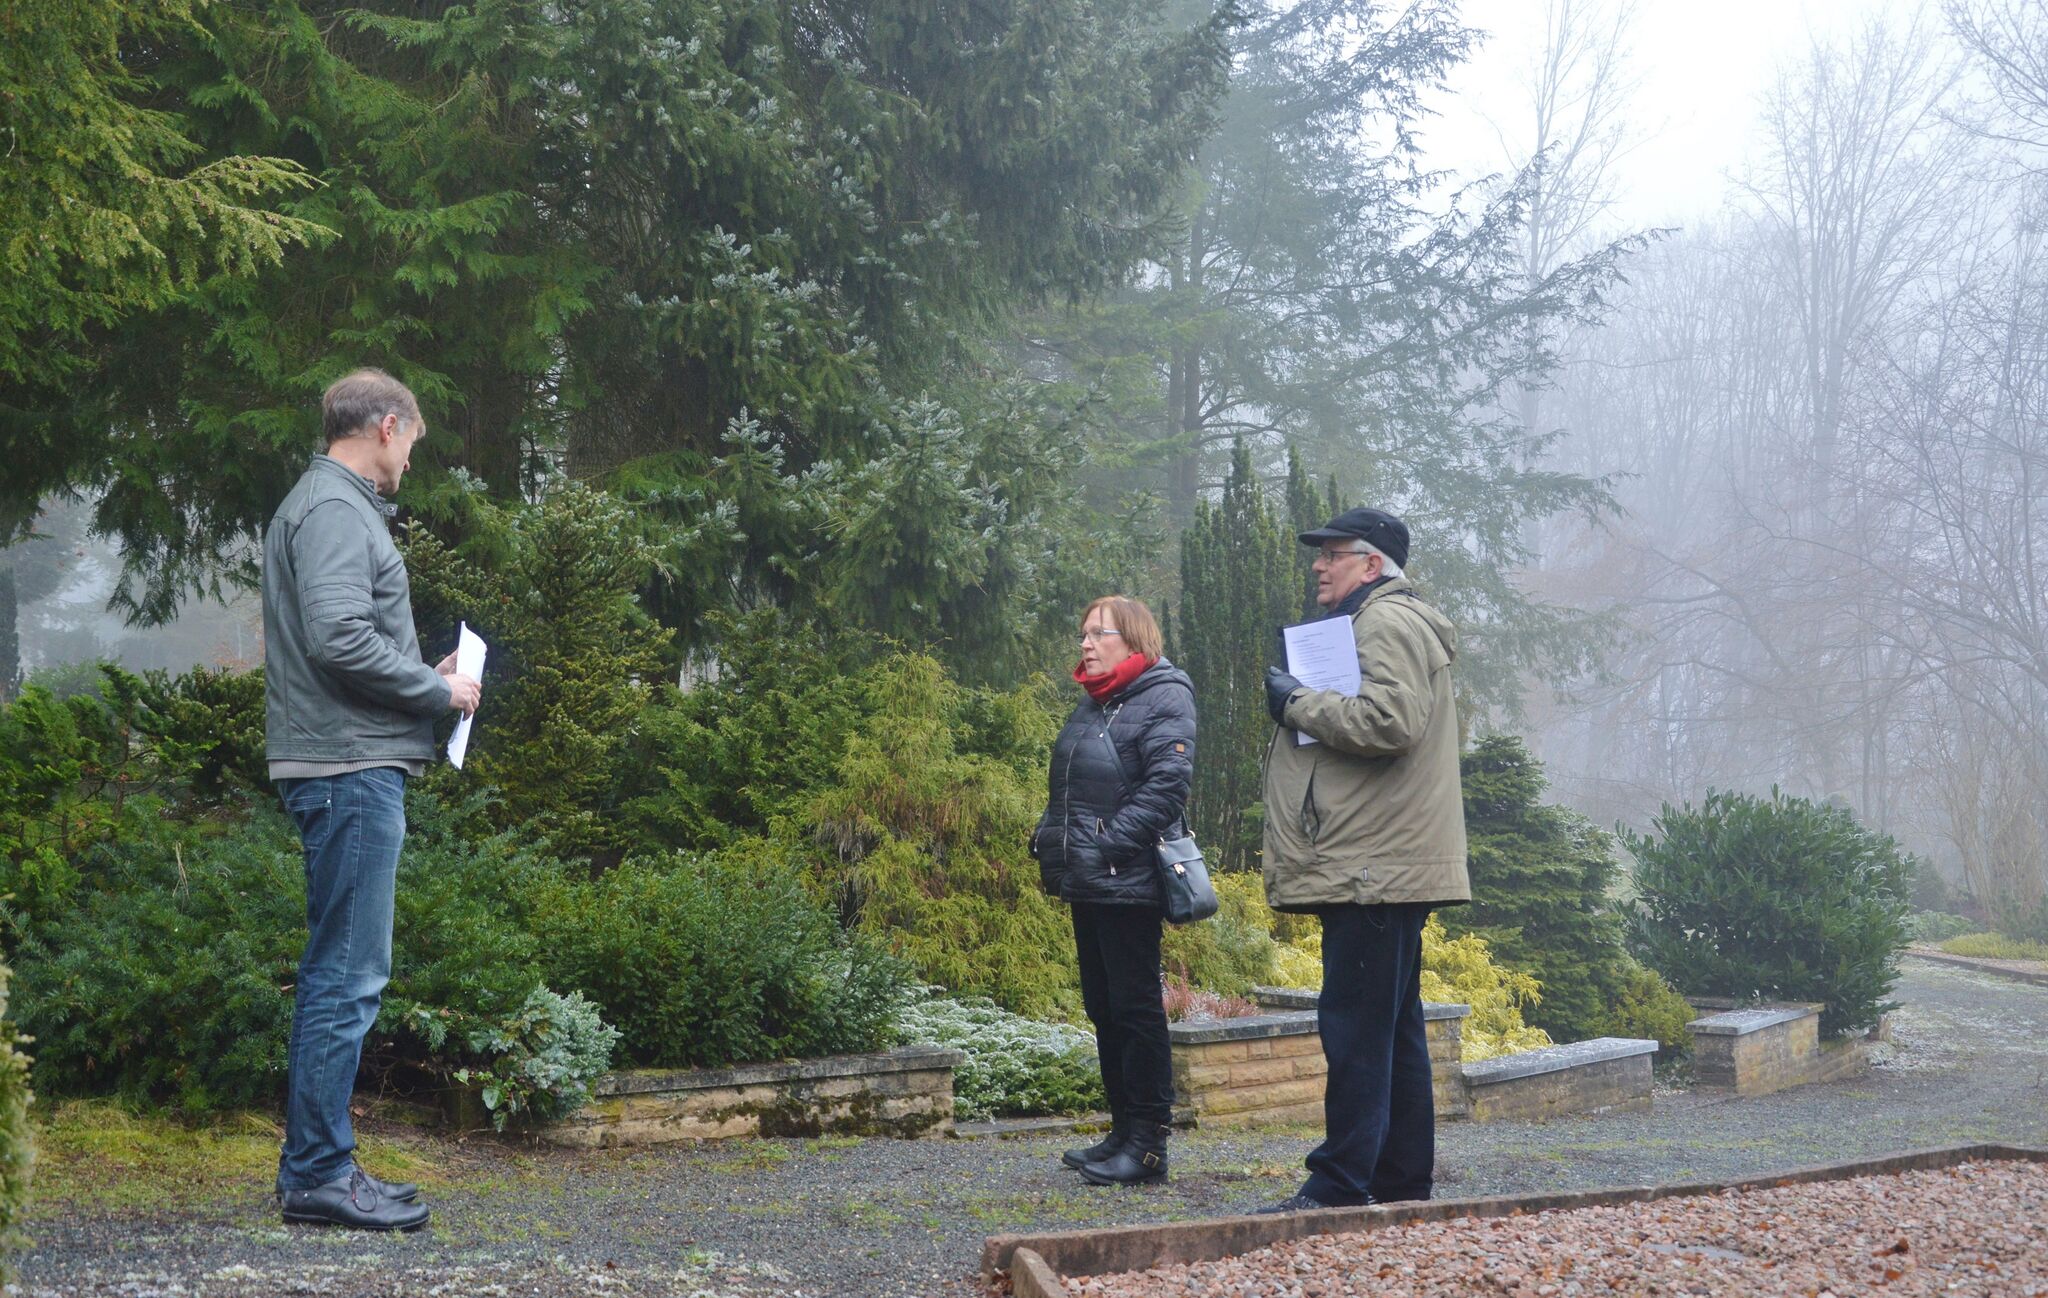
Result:
{"label": "black trousers of the woman with the red scarf", "polygon": [[1159,925],[1149,905],[1073,903],[1081,1007],[1096,1026],[1102,1091],[1118,1122],[1174,1120],[1174,1048],[1159,995]]}

